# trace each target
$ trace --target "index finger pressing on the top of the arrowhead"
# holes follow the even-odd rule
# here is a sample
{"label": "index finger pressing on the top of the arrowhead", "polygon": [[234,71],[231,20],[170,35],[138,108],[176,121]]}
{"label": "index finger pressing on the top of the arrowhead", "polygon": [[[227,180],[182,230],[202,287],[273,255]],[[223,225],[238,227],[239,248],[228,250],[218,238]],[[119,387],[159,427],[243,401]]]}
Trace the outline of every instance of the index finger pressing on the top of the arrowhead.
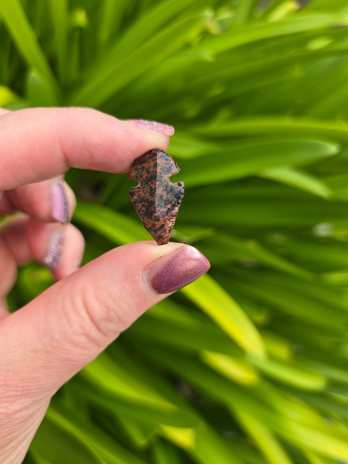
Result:
{"label": "index finger pressing on the top of the arrowhead", "polygon": [[52,179],[70,167],[124,173],[169,136],[87,108],[32,108],[0,115],[0,190]]}

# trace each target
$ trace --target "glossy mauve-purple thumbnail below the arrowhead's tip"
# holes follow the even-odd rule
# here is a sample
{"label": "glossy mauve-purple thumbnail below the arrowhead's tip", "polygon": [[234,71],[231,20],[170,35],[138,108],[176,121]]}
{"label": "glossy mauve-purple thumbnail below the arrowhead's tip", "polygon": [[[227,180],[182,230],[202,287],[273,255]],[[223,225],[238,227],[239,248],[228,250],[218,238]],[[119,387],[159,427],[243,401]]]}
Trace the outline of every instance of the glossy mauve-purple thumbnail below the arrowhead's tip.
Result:
{"label": "glossy mauve-purple thumbnail below the arrowhead's tip", "polygon": [[150,264],[148,283],[156,293],[169,293],[191,284],[209,268],[209,261],[200,251],[183,245]]}

